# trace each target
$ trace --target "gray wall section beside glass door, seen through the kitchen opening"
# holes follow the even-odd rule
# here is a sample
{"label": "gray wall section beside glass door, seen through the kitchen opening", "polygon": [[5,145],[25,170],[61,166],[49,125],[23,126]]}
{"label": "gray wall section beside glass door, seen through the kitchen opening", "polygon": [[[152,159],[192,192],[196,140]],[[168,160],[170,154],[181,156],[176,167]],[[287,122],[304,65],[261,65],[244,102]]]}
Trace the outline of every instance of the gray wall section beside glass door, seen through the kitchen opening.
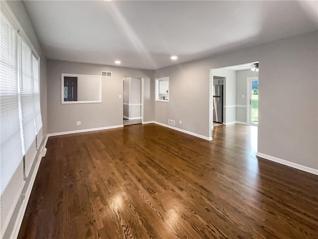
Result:
{"label": "gray wall section beside glass door, seen through the kitchen opening", "polygon": [[[237,111],[236,111],[236,121],[239,122],[247,122],[246,119],[246,99],[247,99],[247,92],[246,92],[246,78],[247,77],[256,77],[257,72],[251,71],[251,70],[241,70],[236,71],[236,78],[237,78]],[[244,98],[242,98],[242,95],[244,95]],[[245,106],[245,107],[242,107]]]}

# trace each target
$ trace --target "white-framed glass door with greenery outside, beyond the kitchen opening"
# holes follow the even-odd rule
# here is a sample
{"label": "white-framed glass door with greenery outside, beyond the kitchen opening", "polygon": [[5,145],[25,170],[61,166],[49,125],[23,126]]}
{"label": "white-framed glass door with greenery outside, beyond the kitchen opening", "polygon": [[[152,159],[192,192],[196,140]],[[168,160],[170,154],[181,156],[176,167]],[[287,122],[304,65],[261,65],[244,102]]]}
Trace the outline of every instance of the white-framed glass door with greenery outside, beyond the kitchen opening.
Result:
{"label": "white-framed glass door with greenery outside, beyond the kitchen opening", "polygon": [[247,77],[247,123],[258,125],[258,77]]}

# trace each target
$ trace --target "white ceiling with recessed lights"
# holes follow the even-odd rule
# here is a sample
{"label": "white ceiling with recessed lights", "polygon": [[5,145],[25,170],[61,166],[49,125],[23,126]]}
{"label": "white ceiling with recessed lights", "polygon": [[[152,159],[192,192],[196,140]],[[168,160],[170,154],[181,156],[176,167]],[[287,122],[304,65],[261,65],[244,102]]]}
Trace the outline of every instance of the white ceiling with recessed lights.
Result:
{"label": "white ceiling with recessed lights", "polygon": [[318,30],[318,1],[23,2],[47,58],[141,69]]}

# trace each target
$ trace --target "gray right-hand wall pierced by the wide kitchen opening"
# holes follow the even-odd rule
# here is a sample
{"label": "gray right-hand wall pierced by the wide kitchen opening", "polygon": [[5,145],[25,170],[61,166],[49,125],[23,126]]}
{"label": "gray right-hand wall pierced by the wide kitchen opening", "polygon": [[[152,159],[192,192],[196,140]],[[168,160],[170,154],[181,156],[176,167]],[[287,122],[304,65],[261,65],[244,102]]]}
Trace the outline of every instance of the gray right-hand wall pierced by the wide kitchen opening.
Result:
{"label": "gray right-hand wall pierced by the wide kitchen opening", "polygon": [[155,103],[155,119],[211,137],[209,70],[259,61],[258,152],[318,169],[317,52],[316,31],[156,70],[170,102]]}

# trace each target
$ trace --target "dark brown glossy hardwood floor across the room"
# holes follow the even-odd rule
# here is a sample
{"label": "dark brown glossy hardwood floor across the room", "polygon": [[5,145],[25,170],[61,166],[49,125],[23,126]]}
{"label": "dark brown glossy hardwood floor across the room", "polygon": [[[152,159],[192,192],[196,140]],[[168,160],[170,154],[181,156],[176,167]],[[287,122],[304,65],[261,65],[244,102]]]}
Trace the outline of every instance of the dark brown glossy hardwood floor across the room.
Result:
{"label": "dark brown glossy hardwood floor across the room", "polygon": [[317,239],[318,176],[257,159],[257,128],[50,137],[19,239]]}

